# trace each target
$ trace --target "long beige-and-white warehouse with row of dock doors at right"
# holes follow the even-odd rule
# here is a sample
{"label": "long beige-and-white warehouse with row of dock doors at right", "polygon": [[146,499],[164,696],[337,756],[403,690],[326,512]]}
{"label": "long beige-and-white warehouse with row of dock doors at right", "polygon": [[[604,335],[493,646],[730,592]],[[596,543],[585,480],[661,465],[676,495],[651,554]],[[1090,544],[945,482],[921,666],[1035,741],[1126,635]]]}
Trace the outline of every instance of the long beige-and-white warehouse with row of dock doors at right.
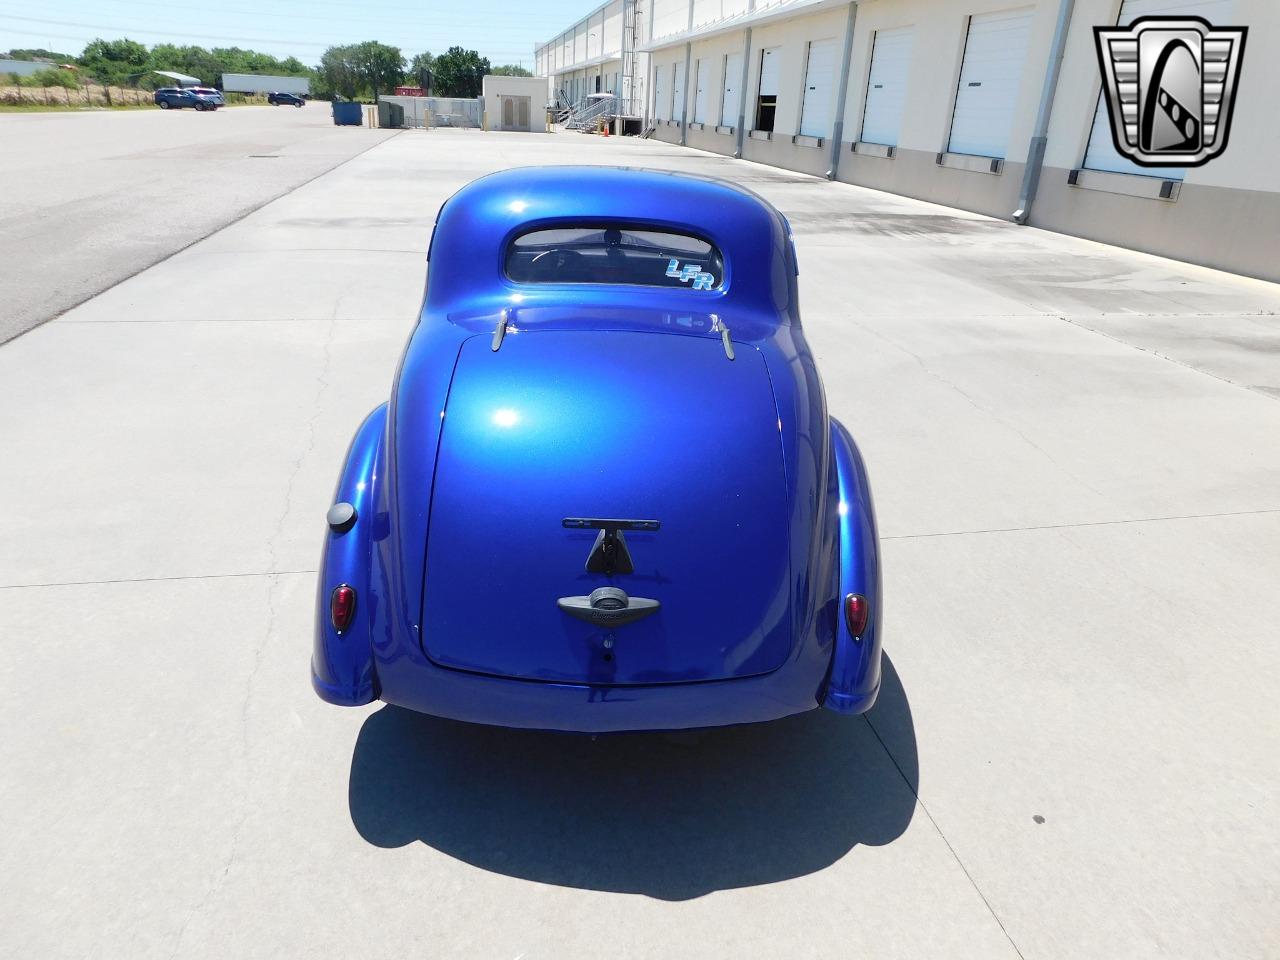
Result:
{"label": "long beige-and-white warehouse with row of dock doors at right", "polygon": [[[643,3],[663,141],[1280,280],[1275,0]],[[1230,148],[1202,166],[1112,143],[1093,27],[1146,15],[1249,28]]]}

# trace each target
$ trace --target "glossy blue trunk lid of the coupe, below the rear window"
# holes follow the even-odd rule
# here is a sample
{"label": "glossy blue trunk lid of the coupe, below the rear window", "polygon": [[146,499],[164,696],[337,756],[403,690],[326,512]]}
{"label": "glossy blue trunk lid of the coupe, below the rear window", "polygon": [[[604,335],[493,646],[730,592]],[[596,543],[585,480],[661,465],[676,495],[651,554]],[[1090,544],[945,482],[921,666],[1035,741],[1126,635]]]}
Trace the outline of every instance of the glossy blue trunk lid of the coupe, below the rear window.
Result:
{"label": "glossy blue trunk lid of the coupe, below the rear window", "polygon": [[[603,330],[468,339],[428,525],[422,639],[447,667],[558,682],[753,676],[791,649],[786,483],[749,344]],[[634,571],[586,568],[625,529]],[[599,564],[596,564],[599,566]],[[602,586],[657,600],[621,626],[567,613]]]}

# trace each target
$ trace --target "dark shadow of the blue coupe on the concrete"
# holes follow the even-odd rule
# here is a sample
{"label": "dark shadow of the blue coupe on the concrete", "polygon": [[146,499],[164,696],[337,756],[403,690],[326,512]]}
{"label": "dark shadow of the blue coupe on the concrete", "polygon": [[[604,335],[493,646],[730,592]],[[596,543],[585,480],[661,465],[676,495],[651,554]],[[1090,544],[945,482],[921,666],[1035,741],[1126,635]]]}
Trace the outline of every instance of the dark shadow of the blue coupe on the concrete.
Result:
{"label": "dark shadow of the blue coupe on the concrete", "polygon": [[[888,751],[886,751],[886,746]],[[494,873],[686,900],[801,877],[906,829],[919,769],[888,658],[867,717],[812,710],[695,735],[588,736],[385,707],[351,763],[351,819]]]}

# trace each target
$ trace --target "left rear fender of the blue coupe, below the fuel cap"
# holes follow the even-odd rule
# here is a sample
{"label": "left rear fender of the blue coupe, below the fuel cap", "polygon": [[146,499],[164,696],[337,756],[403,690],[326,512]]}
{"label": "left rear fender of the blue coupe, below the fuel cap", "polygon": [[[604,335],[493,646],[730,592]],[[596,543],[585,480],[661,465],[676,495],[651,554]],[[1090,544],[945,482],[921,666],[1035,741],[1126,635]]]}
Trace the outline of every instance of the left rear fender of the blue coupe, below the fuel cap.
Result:
{"label": "left rear fender of the blue coupe, below the fuel cap", "polygon": [[[320,577],[316,586],[315,653],[311,657],[311,685],[321,699],[343,707],[358,707],[378,699],[374,671],[372,622],[378,612],[374,541],[379,539],[378,484],[385,471],[387,404],[370,413],[360,425],[338,481],[334,503],[356,508],[356,521],[347,530],[325,530]],[[385,535],[385,534],[381,534]],[[333,590],[346,584],[356,591],[356,614],[339,634],[329,617]]]}

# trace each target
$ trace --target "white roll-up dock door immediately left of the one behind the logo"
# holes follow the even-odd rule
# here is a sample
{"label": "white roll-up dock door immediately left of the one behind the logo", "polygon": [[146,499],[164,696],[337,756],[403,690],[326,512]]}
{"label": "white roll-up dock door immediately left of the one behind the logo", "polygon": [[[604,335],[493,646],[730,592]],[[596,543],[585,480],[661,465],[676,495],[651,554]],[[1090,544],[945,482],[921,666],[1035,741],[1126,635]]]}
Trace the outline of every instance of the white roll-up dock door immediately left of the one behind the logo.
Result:
{"label": "white roll-up dock door immediately left of the one behind the logo", "polygon": [[1001,10],[969,18],[947,143],[951,152],[998,157],[1007,152],[1033,13]]}

